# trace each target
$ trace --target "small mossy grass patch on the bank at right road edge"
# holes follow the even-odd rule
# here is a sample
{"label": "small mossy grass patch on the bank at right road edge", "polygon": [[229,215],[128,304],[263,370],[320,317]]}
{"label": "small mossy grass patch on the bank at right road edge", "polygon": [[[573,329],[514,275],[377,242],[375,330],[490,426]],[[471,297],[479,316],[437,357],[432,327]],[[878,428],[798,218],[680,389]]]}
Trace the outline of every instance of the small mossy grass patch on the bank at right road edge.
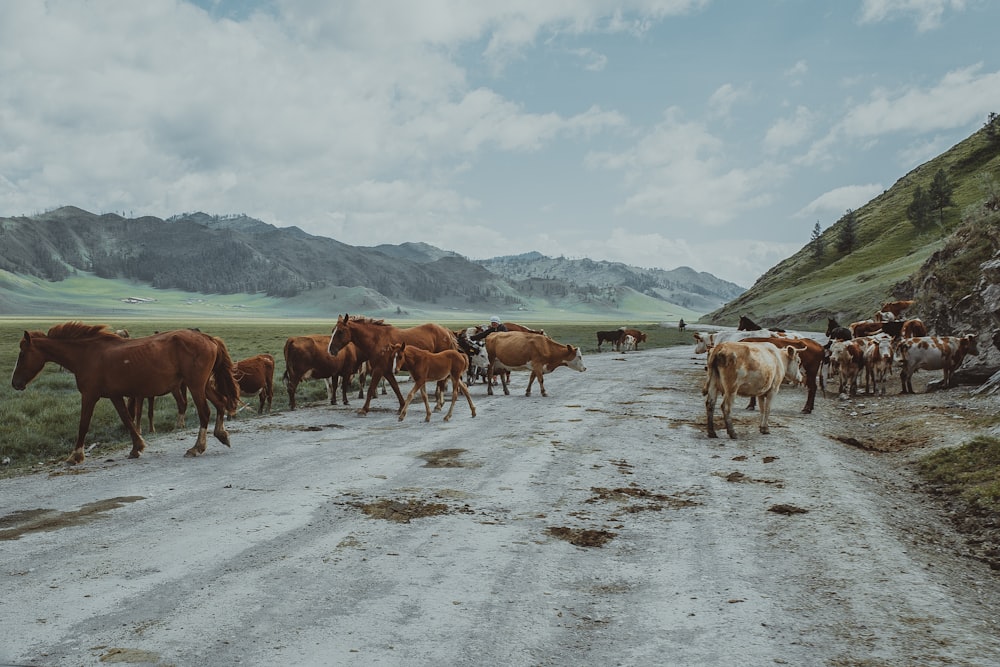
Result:
{"label": "small mossy grass patch on the bank at right road edge", "polygon": [[973,507],[1000,511],[1000,438],[980,436],[919,462],[920,475]]}

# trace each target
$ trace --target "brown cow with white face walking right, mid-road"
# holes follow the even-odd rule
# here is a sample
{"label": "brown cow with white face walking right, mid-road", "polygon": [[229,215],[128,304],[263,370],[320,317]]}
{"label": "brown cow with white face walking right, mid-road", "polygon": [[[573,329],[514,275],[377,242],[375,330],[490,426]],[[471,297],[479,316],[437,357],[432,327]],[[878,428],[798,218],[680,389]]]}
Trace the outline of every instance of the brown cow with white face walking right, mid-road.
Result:
{"label": "brown cow with white face walking right, mid-road", "polygon": [[[563,345],[548,336],[538,336],[519,331],[501,331],[486,338],[486,353],[490,358],[489,377],[486,381],[486,393],[493,395],[493,377],[497,371],[507,369],[512,371],[530,370],[528,388],[525,396],[531,396],[531,384],[538,379],[538,388],[542,396],[545,383],[542,376],[551,373],[560,366],[566,366],[575,371],[583,372],[583,355],[575,345]],[[507,379],[500,375],[503,393],[510,394]]]}

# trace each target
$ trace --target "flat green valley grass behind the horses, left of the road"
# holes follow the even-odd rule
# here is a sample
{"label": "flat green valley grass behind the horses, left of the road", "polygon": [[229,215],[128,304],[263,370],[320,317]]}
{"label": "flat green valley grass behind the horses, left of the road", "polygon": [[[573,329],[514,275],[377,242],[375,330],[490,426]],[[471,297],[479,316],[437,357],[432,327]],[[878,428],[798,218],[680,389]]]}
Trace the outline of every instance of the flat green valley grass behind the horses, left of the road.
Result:
{"label": "flat green valley grass behind the horses, left of the road", "polygon": [[[41,373],[28,385],[25,391],[15,391],[9,378],[17,362],[19,342],[24,331],[47,331],[50,327],[66,322],[66,319],[0,319],[0,368],[8,380],[0,384],[0,459],[9,458],[10,463],[0,467],[0,478],[23,473],[42,464],[58,463],[65,459],[76,442],[80,420],[80,393],[72,373],[55,364],[46,364]],[[107,320],[85,320],[88,324],[105,323]],[[422,322],[397,322],[387,319],[390,324],[406,328]],[[156,331],[185,328],[197,325],[206,333],[222,338],[226,342],[233,361],[239,361],[255,354],[267,352],[274,355],[274,401],[272,412],[288,409],[288,392],[281,383],[285,371],[283,349],[289,336],[305,334],[328,334],[336,320],[325,319],[283,319],[283,320],[234,320],[224,318],[215,321],[191,322],[189,319],[142,319],[115,320],[115,328],[128,329],[133,338],[147,336]],[[440,321],[449,329],[458,330],[479,322]],[[658,323],[622,322],[525,322],[526,326],[545,329],[547,335],[560,343],[577,345],[586,358],[597,351],[596,331],[627,325],[638,328],[648,335],[648,340],[640,344],[642,349],[692,344],[689,332],[680,332],[676,327],[660,327]],[[607,350],[607,346],[604,347]],[[605,354],[610,352],[605,352]],[[352,384],[353,396],[349,394],[354,409],[360,407],[356,399],[358,384]],[[390,397],[391,398],[391,397]],[[320,380],[306,381],[299,385],[296,400],[301,407],[327,405],[326,385]],[[384,399],[383,399],[384,400]],[[257,401],[251,399],[250,407],[240,411],[234,419],[253,419],[257,416]],[[338,409],[343,410],[344,406]],[[156,400],[154,425],[157,433],[175,430],[176,405],[170,396]],[[189,405],[187,428],[197,424],[197,412]],[[142,417],[142,432],[148,431],[146,415]],[[118,413],[108,400],[100,400],[94,410],[94,417],[87,433],[85,446],[98,443],[88,456],[107,455],[111,451],[127,448],[130,440],[121,424]]]}

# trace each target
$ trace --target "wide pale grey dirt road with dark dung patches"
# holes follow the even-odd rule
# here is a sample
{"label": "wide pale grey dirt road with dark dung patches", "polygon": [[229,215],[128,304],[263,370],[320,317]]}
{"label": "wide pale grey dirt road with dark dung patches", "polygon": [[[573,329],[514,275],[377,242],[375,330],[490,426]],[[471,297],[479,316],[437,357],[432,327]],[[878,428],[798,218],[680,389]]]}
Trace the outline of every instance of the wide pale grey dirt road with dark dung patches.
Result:
{"label": "wide pale grey dirt road with dark dung patches", "polygon": [[0,481],[0,663],[1000,664],[997,574],[913,494],[912,450],[836,439],[909,416],[940,444],[924,408],[976,399],[802,415],[789,388],[770,435],[741,408],[709,440],[703,356],[585,362],[547,398],[473,385],[475,419],[355,399]]}

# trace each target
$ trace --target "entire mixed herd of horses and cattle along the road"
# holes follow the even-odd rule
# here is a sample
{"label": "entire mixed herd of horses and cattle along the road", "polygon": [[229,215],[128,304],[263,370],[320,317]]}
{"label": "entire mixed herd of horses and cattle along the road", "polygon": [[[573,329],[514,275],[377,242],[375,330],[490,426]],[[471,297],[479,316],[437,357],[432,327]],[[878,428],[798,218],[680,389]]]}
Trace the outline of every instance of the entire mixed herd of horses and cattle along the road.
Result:
{"label": "entire mixed herd of horses and cattle along the road", "polygon": [[[825,379],[838,380],[839,393],[854,396],[863,374],[865,393],[884,395],[887,378],[894,366],[899,369],[902,393],[913,392],[912,377],[920,369],[941,370],[944,386],[950,386],[953,371],[965,357],[979,354],[976,336],[928,336],[923,322],[903,317],[912,304],[912,301],[885,303],[872,319],[847,327],[830,319],[825,340],[817,340],[819,336],[766,329],[745,316],[740,318],[736,331],[695,333],[695,353],[707,353],[702,393],[709,437],[717,437],[714,411],[719,397],[729,437],[736,437],[731,418],[736,396],[749,397],[750,408],[760,404],[760,431],[767,433],[771,403],[784,382],[806,385],[804,413],[812,412],[817,387],[822,386],[825,393]],[[288,391],[289,408],[296,408],[296,390],[302,381],[309,379],[326,382],[331,404],[337,402],[339,384],[341,400],[347,405],[349,388],[357,376],[361,387],[358,398],[366,396],[364,406],[358,410],[360,414],[368,413],[379,387],[383,394],[386,393],[387,383],[399,401],[400,421],[406,417],[418,391],[424,402],[424,420],[430,421],[431,408],[425,385],[436,383],[436,409],[441,409],[450,383],[451,407],[444,417],[447,421],[459,394],[468,402],[472,416],[476,416],[468,385],[479,378],[483,378],[489,395],[493,394],[497,380],[504,393],[509,394],[510,371],[527,370],[531,375],[525,395],[531,395],[537,380],[539,391],[545,396],[544,375],[547,373],[561,366],[586,370],[577,346],[558,343],[544,331],[514,322],[503,323],[503,328],[506,331],[487,331],[483,327],[452,331],[427,323],[402,329],[383,320],[340,316],[331,334],[292,336],[286,340],[285,371],[281,381]],[[15,389],[24,389],[47,361],[55,361],[76,375],[83,403],[78,440],[70,463],[83,460],[83,438],[89,427],[93,403],[98,398],[109,398],[115,404],[132,435],[130,456],[137,457],[145,447],[139,431],[143,401],[149,400],[152,430],[153,399],[172,394],[177,403],[178,424],[182,425],[190,391],[201,429],[196,446],[187,453],[196,456],[205,451],[207,403],[216,408],[215,436],[227,445],[228,434],[222,415],[231,415],[241,398],[256,397],[258,413],[270,410],[274,397],[275,359],[270,354],[258,354],[233,362],[220,339],[195,332],[197,330],[167,332],[127,342],[127,332],[116,335],[103,325],[88,326],[78,322],[53,327],[48,334],[25,332],[12,385]],[[598,351],[604,343],[617,351],[635,350],[645,341],[645,333],[627,327],[597,332]],[[206,350],[205,361],[197,368],[191,358],[192,346]],[[163,348],[167,348],[165,358],[172,366],[163,361],[154,363],[154,350]],[[103,352],[98,352],[99,349]],[[137,372],[141,364],[145,366]],[[115,368],[119,369],[117,377],[112,372]],[[396,374],[401,371],[408,372],[413,381],[405,398],[396,381]],[[155,379],[155,375],[162,377]],[[145,384],[140,384],[140,380]]]}

